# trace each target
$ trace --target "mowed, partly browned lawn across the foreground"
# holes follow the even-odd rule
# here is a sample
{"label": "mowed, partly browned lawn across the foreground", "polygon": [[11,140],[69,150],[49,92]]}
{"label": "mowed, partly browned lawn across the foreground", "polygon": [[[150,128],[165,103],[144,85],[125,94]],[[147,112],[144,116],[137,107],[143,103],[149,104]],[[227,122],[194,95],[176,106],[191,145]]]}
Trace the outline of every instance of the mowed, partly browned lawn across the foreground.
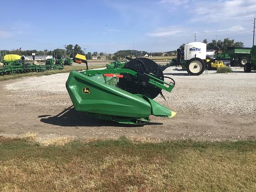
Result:
{"label": "mowed, partly browned lawn across the foreground", "polygon": [[256,141],[42,145],[0,137],[3,192],[252,192]]}

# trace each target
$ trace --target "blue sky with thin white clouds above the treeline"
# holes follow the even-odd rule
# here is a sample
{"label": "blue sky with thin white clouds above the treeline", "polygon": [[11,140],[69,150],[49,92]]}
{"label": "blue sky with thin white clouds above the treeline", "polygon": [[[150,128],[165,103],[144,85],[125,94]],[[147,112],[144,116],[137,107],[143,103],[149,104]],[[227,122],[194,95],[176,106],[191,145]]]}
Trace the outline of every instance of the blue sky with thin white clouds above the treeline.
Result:
{"label": "blue sky with thin white clouds above the treeline", "polygon": [[225,37],[252,46],[256,0],[0,0],[1,49],[164,52]]}

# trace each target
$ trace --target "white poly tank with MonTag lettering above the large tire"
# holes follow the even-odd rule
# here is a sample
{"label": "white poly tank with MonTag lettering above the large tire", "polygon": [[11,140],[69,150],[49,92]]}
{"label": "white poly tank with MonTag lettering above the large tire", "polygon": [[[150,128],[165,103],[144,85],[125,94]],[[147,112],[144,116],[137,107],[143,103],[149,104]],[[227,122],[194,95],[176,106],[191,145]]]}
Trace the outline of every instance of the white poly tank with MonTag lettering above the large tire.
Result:
{"label": "white poly tank with MonTag lettering above the large tire", "polygon": [[206,59],[206,44],[201,42],[192,42],[184,46],[184,60],[192,58]]}

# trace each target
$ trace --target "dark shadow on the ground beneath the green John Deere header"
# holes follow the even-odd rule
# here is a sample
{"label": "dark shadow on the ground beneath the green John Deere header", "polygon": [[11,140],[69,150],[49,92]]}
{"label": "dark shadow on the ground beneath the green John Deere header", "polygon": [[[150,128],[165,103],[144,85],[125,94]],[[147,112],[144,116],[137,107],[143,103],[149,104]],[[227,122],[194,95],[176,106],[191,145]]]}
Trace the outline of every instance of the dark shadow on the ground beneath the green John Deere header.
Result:
{"label": "dark shadow on the ground beneath the green John Deere header", "polygon": [[[47,117],[47,118],[46,118]],[[84,112],[78,112],[73,106],[65,109],[56,116],[51,115],[41,115],[40,121],[46,124],[59,125],[63,127],[143,127],[144,125],[134,125],[134,124],[118,124],[113,121],[99,120],[97,118],[87,116]],[[151,123],[147,125],[160,125],[162,123]]]}

